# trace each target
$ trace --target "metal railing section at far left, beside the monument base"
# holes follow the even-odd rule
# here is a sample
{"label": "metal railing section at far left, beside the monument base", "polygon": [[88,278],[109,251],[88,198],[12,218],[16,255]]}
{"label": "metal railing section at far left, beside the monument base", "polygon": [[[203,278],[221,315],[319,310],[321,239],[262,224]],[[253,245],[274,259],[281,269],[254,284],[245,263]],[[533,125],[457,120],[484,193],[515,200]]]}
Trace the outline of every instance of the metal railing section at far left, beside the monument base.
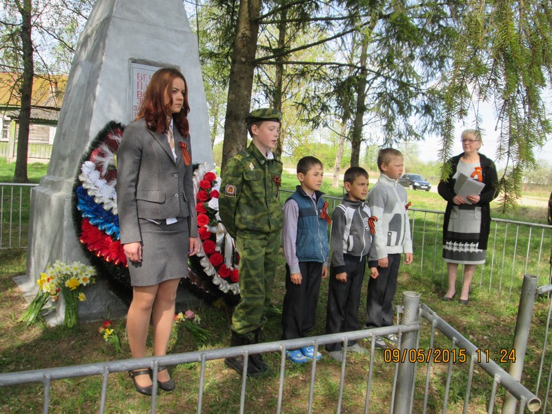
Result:
{"label": "metal railing section at far left, beside the monument base", "polygon": [[0,249],[27,247],[30,195],[37,185],[0,183]]}

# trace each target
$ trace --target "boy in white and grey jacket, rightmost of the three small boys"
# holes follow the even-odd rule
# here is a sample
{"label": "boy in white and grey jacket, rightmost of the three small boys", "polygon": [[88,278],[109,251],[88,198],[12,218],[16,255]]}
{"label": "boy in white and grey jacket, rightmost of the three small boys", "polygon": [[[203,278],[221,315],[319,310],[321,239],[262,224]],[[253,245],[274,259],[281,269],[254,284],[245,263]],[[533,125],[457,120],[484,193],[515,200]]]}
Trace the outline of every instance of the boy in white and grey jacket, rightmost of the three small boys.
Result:
{"label": "boy in white and grey jacket, rightmost of the three small boys", "polygon": [[[368,206],[378,218],[375,223],[377,250],[377,279],[368,282],[366,299],[366,328],[378,328],[393,324],[393,296],[397,290],[397,277],[401,253],[405,264],[411,264],[412,239],[406,190],[397,180],[402,175],[404,158],[394,148],[384,148],[377,155],[380,178],[368,194]],[[397,343],[397,335],[386,337]],[[386,348],[386,343],[377,337],[375,345]]]}

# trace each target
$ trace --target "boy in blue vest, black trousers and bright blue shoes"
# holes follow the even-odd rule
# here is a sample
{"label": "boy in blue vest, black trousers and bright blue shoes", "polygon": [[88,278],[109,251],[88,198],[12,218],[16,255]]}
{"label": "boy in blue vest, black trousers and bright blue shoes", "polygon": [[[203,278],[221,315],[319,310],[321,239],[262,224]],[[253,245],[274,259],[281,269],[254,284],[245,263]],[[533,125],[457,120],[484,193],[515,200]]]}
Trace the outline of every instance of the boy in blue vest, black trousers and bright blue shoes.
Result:
{"label": "boy in blue vest, black trousers and bright blue shoes", "polygon": [[[282,312],[282,339],[308,336],[316,319],[318,293],[328,274],[328,203],[320,186],[324,166],[315,157],[297,163],[300,186],[284,204],[282,244],[286,256],[286,295]],[[291,362],[302,364],[316,357],[313,346],[286,351]]]}

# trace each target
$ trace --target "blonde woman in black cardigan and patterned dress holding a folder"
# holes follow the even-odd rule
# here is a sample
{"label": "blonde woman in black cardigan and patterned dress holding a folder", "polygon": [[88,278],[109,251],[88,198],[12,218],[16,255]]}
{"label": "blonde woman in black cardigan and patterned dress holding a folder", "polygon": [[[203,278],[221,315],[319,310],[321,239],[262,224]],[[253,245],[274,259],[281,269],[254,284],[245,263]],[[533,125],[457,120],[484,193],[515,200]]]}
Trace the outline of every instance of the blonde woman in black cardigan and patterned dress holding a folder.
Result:
{"label": "blonde woman in black cardigan and patterned dress holding a folder", "polygon": [[[458,264],[464,264],[464,283],[459,302],[468,304],[475,266],[485,263],[487,241],[491,227],[489,204],[498,195],[498,177],[491,159],[477,152],[482,145],[477,130],[462,132],[464,152],[449,159],[451,174],[441,181],[437,190],[446,201],[443,223],[443,259],[449,274],[449,290],[443,300],[456,295]],[[457,177],[463,173],[485,184],[480,195],[457,195],[454,190]]]}

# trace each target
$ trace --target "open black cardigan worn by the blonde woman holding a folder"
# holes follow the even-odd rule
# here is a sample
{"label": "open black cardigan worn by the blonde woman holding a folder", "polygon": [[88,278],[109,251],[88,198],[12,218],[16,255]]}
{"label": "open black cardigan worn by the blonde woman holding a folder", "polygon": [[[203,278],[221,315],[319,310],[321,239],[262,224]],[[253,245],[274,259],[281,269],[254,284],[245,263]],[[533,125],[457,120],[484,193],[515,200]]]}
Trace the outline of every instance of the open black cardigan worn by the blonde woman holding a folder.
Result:
{"label": "open black cardigan worn by the blonde woman holding a folder", "polygon": [[[446,179],[446,181],[440,181],[439,186],[437,186],[437,192],[441,197],[443,197],[446,202],[446,210],[444,212],[444,221],[443,221],[443,244],[445,243],[446,229],[449,228],[449,219],[451,217],[451,210],[455,204],[453,203],[453,198],[456,193],[454,192],[454,184],[456,179],[453,179],[453,175],[456,173],[456,168],[460,162],[460,158],[464,155],[464,152],[460,155],[456,155],[449,159],[451,164],[451,174]],[[480,201],[477,204],[472,204],[472,206],[481,207],[481,229],[479,236],[479,248],[486,250],[487,242],[489,240],[489,231],[491,230],[491,207],[489,203],[493,201],[498,195],[498,175],[496,172],[496,167],[491,159],[485,157],[483,154],[479,155],[480,164],[483,174],[483,183],[485,184],[481,194]]]}

